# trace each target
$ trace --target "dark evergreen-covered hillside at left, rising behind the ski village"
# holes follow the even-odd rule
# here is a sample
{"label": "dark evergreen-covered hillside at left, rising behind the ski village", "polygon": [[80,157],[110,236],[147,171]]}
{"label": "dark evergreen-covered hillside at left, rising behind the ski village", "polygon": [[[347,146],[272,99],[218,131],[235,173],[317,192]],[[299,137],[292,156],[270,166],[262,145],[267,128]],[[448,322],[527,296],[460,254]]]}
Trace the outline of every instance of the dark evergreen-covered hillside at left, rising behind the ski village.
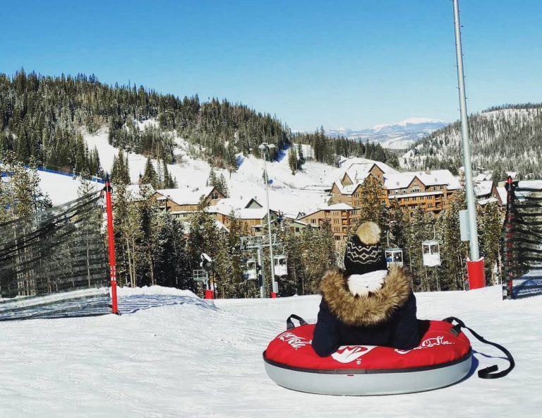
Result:
{"label": "dark evergreen-covered hillside at left, rising behind the ski village", "polygon": [[[155,124],[142,124],[152,119]],[[186,139],[194,157],[216,167],[236,169],[236,154],[259,156],[258,145],[273,143],[277,150],[292,141],[313,145],[318,162],[335,164],[339,155],[369,156],[396,165],[380,145],[344,138],[327,138],[323,129],[292,136],[282,121],[243,104],[198,95],[183,97],[135,85],[107,85],[95,76],[41,76],[21,70],[10,77],[0,73],[0,154],[11,151],[16,160],[64,171],[101,174],[96,150],[89,150],[81,129],[91,133],[109,127],[109,142],[163,162],[174,162],[174,139]],[[272,155],[276,158],[278,154]]]}

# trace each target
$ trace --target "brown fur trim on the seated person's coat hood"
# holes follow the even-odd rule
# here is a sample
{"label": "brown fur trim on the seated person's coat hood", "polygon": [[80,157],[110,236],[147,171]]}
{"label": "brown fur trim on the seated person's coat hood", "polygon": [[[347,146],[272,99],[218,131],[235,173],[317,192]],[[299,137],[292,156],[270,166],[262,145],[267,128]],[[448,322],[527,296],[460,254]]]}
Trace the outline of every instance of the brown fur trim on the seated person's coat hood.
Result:
{"label": "brown fur trim on the seated person's coat hood", "polygon": [[387,321],[406,303],[411,279],[406,270],[392,264],[383,286],[368,296],[354,296],[348,288],[344,270],[329,270],[320,282],[320,292],[330,311],[349,326],[370,326]]}

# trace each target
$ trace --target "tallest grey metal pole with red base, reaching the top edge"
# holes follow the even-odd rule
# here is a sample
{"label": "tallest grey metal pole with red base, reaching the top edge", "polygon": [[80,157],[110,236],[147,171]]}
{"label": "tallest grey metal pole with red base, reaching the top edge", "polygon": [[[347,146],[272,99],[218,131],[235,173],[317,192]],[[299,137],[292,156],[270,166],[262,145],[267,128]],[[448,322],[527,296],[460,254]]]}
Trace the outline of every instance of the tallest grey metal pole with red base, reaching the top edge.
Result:
{"label": "tallest grey metal pole with red base, reaching the top edge", "polygon": [[476,225],[476,198],[472,182],[471,145],[469,141],[469,121],[466,116],[465,78],[463,72],[463,51],[461,46],[461,24],[459,23],[459,0],[452,0],[454,6],[455,54],[457,58],[457,83],[459,85],[459,109],[461,112],[461,132],[463,138],[463,165],[465,170],[466,210],[468,213],[470,259],[466,259],[469,289],[484,287],[486,278],[483,272],[483,258],[478,250],[478,226]]}

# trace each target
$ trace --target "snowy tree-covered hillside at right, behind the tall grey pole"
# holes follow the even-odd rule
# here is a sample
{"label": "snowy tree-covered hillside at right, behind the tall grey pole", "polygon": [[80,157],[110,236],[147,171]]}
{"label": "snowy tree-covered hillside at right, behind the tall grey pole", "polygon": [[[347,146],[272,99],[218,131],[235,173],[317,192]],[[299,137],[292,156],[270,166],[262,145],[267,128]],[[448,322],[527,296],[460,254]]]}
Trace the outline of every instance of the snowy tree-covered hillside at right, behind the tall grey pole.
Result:
{"label": "snowy tree-covered hillside at right, behind the tall grey pole", "polygon": [[[542,104],[507,104],[469,117],[472,164],[504,180],[505,171],[524,179],[542,177]],[[409,169],[462,167],[459,121],[433,132],[400,160]]]}

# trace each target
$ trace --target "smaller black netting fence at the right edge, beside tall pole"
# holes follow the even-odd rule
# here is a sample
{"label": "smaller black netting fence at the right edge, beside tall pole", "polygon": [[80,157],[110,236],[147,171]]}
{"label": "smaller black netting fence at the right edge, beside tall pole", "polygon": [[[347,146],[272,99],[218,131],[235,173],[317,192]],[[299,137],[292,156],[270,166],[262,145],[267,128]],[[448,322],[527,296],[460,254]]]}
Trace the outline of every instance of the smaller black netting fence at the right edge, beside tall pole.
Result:
{"label": "smaller black netting fence at the right edge, beside tall pole", "polygon": [[502,239],[502,295],[542,294],[542,181],[511,181]]}

